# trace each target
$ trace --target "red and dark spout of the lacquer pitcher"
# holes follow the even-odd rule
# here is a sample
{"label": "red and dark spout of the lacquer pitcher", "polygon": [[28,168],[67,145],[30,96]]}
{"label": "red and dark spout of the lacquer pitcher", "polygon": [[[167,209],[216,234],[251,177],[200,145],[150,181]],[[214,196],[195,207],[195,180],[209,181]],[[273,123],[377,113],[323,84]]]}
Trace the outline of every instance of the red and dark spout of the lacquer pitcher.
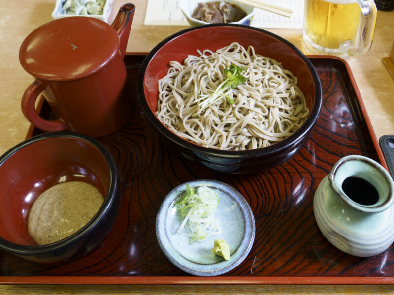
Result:
{"label": "red and dark spout of the lacquer pitcher", "polygon": [[111,26],[116,30],[120,39],[119,50],[122,57],[125,56],[127,41],[129,40],[132,19],[134,17],[135,5],[128,3],[120,7]]}

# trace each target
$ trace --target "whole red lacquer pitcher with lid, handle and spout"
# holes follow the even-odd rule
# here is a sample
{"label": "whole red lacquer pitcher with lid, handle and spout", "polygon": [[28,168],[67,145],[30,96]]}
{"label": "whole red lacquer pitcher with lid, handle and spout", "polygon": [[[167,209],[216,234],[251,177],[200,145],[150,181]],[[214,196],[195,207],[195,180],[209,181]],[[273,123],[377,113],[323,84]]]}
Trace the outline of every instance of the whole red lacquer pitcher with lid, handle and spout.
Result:
{"label": "whole red lacquer pitcher with lid, handle and spout", "polygon": [[[112,25],[90,17],[65,17],[31,32],[19,60],[35,77],[22,98],[25,117],[46,131],[98,137],[128,122],[132,114],[124,55],[135,6],[123,5]],[[35,111],[43,94],[57,119]]]}

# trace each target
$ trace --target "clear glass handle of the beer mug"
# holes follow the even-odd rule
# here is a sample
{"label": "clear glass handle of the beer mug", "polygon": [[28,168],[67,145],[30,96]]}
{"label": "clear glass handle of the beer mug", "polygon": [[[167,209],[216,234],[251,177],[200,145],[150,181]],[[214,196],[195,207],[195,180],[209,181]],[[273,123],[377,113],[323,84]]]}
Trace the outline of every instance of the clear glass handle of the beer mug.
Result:
{"label": "clear glass handle of the beer mug", "polygon": [[353,46],[351,42],[345,41],[339,48],[340,51],[350,56],[361,55],[371,48],[377,17],[376,5],[373,0],[356,0],[356,3],[361,8],[361,19],[358,31],[359,43]]}

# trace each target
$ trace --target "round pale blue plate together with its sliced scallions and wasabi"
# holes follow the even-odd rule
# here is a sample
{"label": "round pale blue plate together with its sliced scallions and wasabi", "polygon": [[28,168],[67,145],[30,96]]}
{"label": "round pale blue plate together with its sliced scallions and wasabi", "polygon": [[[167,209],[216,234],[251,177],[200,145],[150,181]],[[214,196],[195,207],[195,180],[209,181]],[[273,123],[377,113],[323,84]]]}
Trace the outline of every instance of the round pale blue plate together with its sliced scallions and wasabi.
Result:
{"label": "round pale blue plate together with its sliced scallions and wasabi", "polygon": [[156,236],[168,260],[197,276],[229,272],[248,256],[255,238],[245,198],[216,180],[193,180],[174,188],[156,218]]}

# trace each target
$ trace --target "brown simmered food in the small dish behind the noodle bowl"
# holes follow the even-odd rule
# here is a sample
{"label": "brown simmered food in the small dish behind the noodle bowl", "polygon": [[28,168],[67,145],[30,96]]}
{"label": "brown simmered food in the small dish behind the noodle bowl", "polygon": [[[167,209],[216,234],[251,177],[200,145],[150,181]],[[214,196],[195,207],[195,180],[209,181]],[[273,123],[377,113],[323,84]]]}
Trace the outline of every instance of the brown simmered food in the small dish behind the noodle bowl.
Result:
{"label": "brown simmered food in the small dish behind the noodle bowl", "polygon": [[232,23],[243,19],[247,13],[234,3],[206,2],[198,3],[192,17],[210,24]]}

